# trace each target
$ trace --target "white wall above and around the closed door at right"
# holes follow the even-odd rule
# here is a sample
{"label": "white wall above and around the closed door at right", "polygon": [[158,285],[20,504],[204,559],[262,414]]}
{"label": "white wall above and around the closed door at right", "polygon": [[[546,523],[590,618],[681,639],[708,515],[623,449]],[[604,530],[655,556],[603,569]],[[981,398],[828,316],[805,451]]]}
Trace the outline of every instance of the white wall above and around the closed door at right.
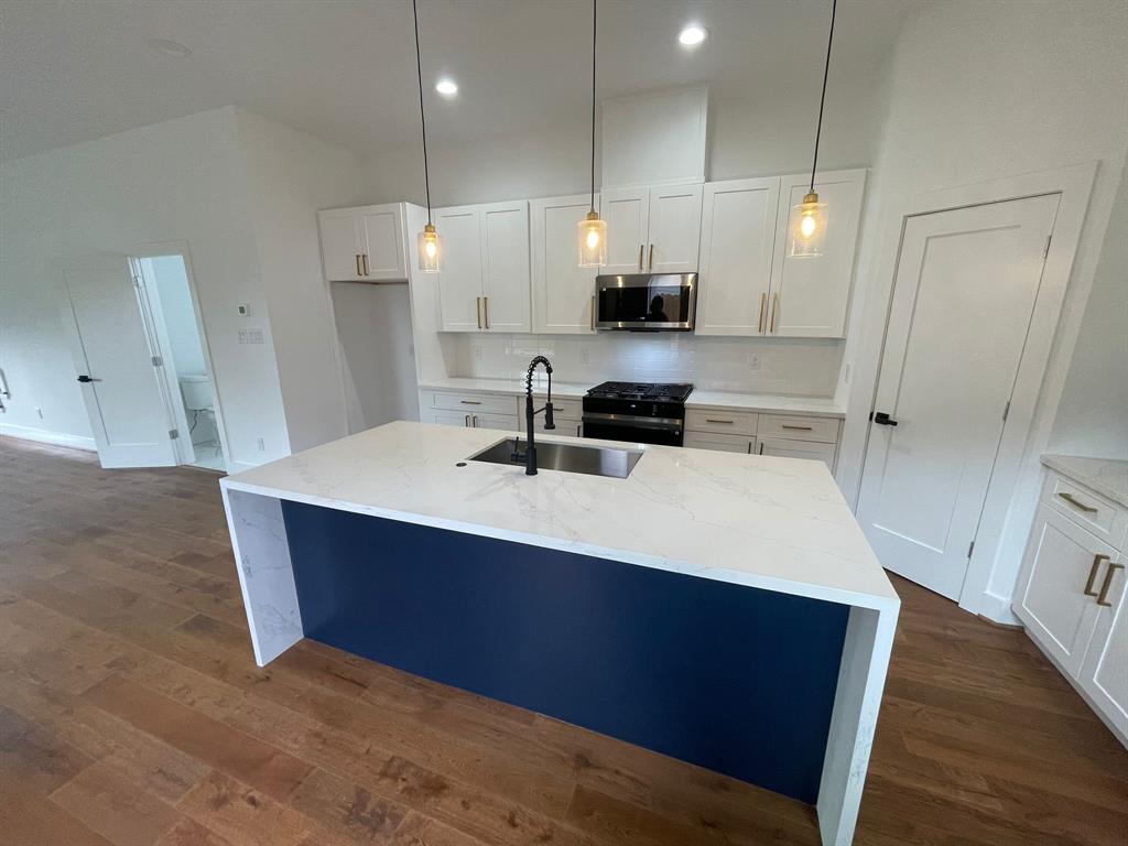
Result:
{"label": "white wall above and around the closed door at right", "polygon": [[[874,160],[862,232],[846,363],[839,386],[848,416],[838,482],[857,494],[881,342],[909,203],[941,188],[1085,161],[1100,167],[1066,297],[1061,326],[1076,325],[1104,237],[1128,146],[1128,5],[1104,0],[1023,2],[951,0],[910,18],[890,68],[889,112]],[[1063,349],[1068,346],[1069,349]],[[1072,340],[1055,345],[1043,404],[1056,405]],[[1040,407],[1032,443],[1054,409]],[[1041,433],[1041,435],[1040,435]],[[1037,456],[1024,461],[1037,474]],[[1032,469],[1031,469],[1032,468]],[[1037,484],[1037,478],[1034,479]],[[1029,487],[1029,479],[1020,486]],[[1025,494],[1016,495],[982,610],[1005,613],[1029,531]],[[1025,517],[1023,514],[1025,513]]]}

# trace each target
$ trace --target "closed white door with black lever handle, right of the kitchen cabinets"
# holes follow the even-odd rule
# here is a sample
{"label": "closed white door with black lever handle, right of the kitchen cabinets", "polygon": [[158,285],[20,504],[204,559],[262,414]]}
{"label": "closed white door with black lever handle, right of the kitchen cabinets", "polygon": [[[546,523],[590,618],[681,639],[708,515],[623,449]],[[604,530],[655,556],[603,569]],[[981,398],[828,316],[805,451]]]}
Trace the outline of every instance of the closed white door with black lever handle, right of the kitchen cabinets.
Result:
{"label": "closed white door with black lever handle, right of the kitchen cabinets", "polygon": [[[1059,195],[910,218],[858,519],[888,570],[963,585]],[[896,423],[896,425],[892,425]]]}

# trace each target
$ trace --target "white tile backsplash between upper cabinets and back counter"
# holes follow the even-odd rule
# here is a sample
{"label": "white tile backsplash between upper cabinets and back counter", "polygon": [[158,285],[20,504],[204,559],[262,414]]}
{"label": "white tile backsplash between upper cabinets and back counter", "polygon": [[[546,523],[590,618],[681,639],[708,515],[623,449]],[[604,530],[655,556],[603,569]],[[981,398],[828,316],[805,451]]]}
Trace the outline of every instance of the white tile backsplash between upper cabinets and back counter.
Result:
{"label": "white tile backsplash between upper cabinets and back counter", "polygon": [[813,338],[676,333],[440,337],[449,376],[518,378],[529,359],[547,355],[557,378],[570,382],[690,381],[707,390],[794,396],[832,396],[843,356],[841,341]]}

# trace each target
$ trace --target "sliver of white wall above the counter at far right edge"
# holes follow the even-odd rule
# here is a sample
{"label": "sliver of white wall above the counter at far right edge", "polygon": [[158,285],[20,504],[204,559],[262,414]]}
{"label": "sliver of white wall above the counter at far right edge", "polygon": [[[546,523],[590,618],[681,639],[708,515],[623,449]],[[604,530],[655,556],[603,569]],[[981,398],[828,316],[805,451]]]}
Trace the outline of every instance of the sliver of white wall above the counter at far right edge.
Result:
{"label": "sliver of white wall above the counter at far right edge", "polygon": [[1049,449],[1128,459],[1128,178],[1112,205]]}

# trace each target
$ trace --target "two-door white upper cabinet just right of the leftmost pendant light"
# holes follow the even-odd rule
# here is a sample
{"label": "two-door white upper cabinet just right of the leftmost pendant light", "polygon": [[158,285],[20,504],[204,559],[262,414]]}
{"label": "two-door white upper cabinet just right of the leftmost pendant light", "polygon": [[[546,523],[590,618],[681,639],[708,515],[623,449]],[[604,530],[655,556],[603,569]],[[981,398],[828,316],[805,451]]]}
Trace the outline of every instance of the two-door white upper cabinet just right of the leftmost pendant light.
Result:
{"label": "two-door white upper cabinet just right of the leftmost pendant light", "polygon": [[439,209],[439,309],[444,332],[529,332],[529,205]]}

